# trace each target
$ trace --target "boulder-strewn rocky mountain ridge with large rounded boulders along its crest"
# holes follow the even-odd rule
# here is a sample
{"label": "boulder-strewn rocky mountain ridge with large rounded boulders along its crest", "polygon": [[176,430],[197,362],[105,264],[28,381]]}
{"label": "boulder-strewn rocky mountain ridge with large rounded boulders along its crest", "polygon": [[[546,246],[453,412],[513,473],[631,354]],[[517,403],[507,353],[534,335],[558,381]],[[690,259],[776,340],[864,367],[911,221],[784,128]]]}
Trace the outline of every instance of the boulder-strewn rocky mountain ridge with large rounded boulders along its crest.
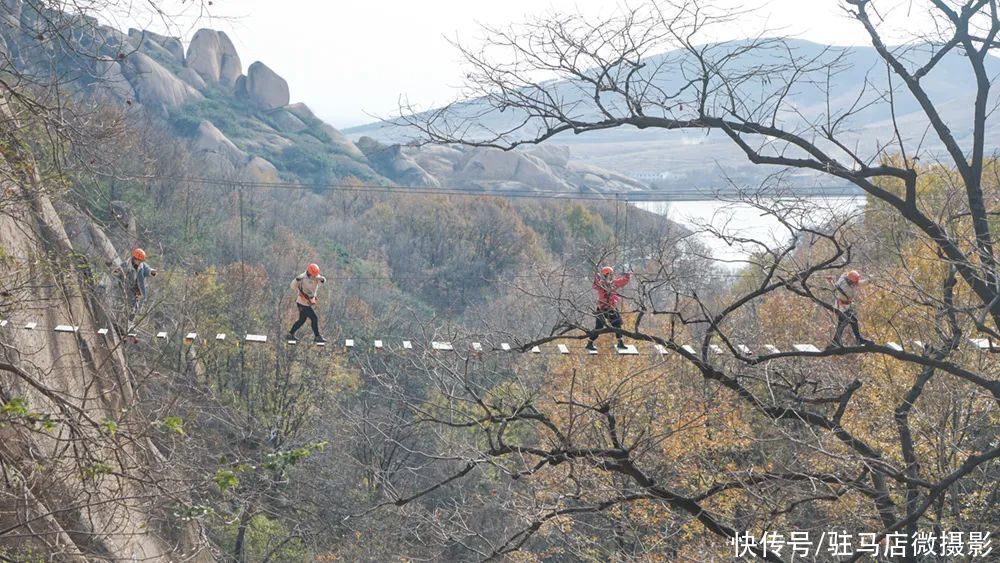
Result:
{"label": "boulder-strewn rocky mountain ridge with large rounded boulders along its crest", "polygon": [[[67,91],[75,89],[88,101],[145,112],[194,149],[203,166],[199,176],[313,185],[356,179],[484,191],[647,188],[599,167],[570,166],[568,157],[549,153],[414,154],[372,140],[359,146],[305,104],[290,103],[288,83],[266,64],[257,61],[244,69],[221,31],[200,29],[185,49],[177,37],[138,29],[123,33],[22,0],[0,3],[0,21],[0,72],[10,65],[21,76],[58,73]],[[53,28],[65,32],[65,39],[47,38]],[[57,68],[50,66],[53,60]]]}

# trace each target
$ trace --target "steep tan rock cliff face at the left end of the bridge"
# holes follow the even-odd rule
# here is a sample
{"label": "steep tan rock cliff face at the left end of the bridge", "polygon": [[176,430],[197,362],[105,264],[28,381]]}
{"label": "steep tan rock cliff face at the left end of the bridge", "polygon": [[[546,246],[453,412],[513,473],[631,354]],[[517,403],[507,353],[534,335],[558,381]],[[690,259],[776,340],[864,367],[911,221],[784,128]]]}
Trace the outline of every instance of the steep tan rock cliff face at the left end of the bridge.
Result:
{"label": "steep tan rock cliff face at the left end of the bridge", "polygon": [[206,560],[183,522],[158,519],[168,472],[117,340],[98,334],[106,274],[87,265],[117,251],[82,214],[57,212],[17,129],[0,105],[0,555]]}

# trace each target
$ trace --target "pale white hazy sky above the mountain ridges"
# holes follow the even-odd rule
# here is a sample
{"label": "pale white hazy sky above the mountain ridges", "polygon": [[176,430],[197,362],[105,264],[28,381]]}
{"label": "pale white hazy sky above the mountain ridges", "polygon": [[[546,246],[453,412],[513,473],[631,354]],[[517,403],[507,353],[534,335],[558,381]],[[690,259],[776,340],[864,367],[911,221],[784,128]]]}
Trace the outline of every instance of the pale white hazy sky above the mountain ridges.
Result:
{"label": "pale white hazy sky above the mountain ridges", "polygon": [[[838,4],[759,0],[753,17],[719,39],[766,26],[821,43],[868,44]],[[254,61],[264,62],[288,80],[293,102],[305,102],[346,128],[372,121],[371,115],[391,115],[400,96],[419,107],[453,99],[461,69],[448,38],[474,40],[477,22],[512,23],[549,11],[606,13],[613,7],[607,0],[214,0],[213,16],[221,17],[197,25],[225,30],[244,70]],[[186,42],[193,29],[180,32]]]}

